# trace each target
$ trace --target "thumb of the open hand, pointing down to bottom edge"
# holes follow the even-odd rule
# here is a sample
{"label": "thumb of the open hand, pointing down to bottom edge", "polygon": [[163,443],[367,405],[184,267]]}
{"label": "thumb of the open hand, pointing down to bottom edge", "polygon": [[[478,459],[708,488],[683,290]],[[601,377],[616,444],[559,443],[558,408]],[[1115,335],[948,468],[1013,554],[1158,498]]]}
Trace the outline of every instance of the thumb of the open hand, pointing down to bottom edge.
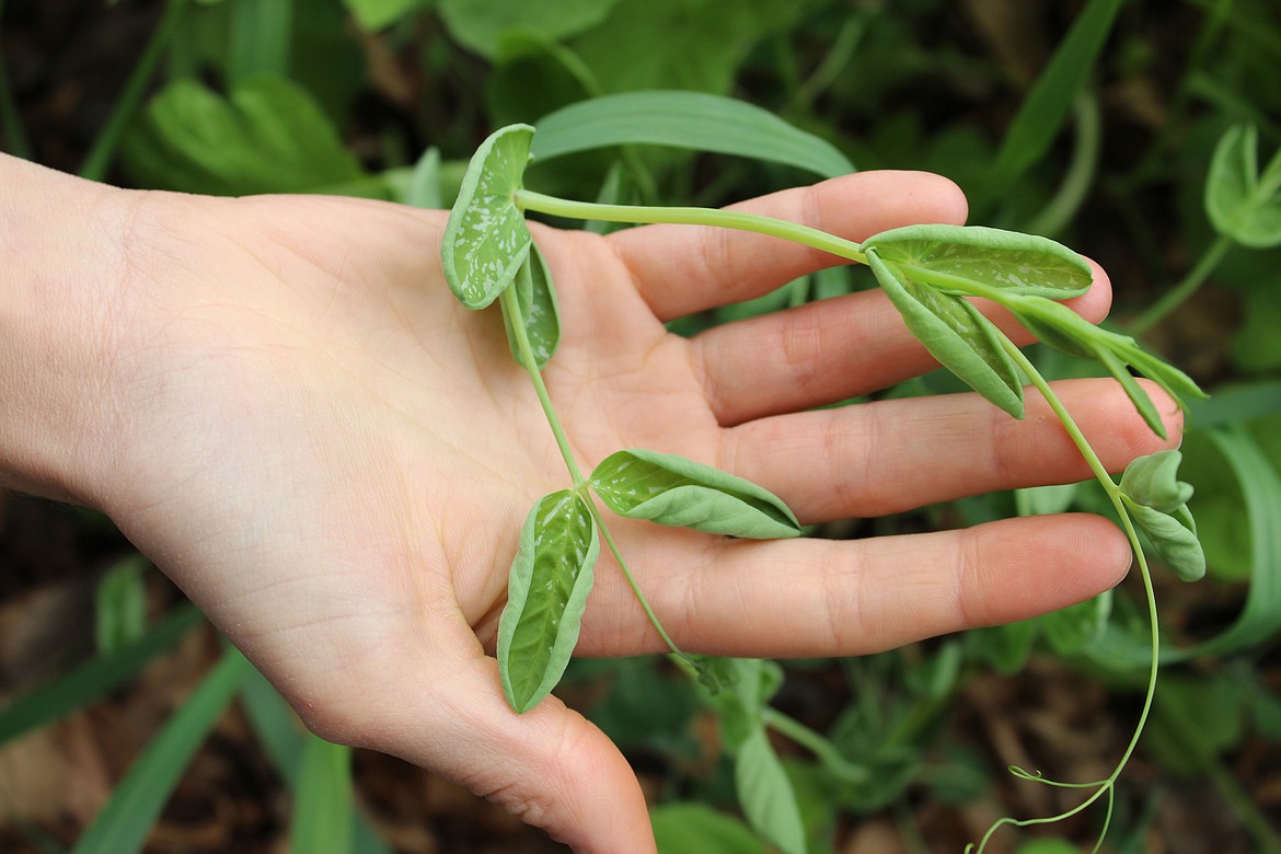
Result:
{"label": "thumb of the open hand, pointing down to bottom edge", "polygon": [[575,851],[653,854],[644,795],[614,743],[555,697],[518,714],[474,634],[447,645],[398,680],[364,746],[459,781]]}

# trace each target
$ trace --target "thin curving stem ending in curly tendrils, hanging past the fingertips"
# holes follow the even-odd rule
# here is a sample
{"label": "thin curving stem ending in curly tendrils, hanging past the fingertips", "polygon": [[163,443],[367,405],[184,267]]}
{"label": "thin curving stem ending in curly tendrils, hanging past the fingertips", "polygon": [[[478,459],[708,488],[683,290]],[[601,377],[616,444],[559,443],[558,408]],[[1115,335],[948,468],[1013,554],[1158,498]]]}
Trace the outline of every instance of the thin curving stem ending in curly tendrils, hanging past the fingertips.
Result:
{"label": "thin curving stem ending in curly tendrils, hanging past the fingertips", "polygon": [[[1018,350],[1018,347],[1016,347],[1015,343],[1009,341],[1006,335],[1000,335],[1000,344],[1002,348],[1006,351],[1006,353],[1015,361],[1016,365],[1018,365],[1020,370],[1022,370],[1022,373],[1027,376],[1027,379],[1031,380],[1032,385],[1036,387],[1036,391],[1041,393],[1041,396],[1045,398],[1045,402],[1049,405],[1050,410],[1053,410],[1054,415],[1058,416],[1058,420],[1062,423],[1063,429],[1067,431],[1068,437],[1071,437],[1072,443],[1081,453],[1081,457],[1090,467],[1090,471],[1094,472],[1094,478],[1099,481],[1099,485],[1103,487],[1104,492],[1108,495],[1108,499],[1112,502],[1112,506],[1117,511],[1117,516],[1121,519],[1121,528],[1122,530],[1125,530],[1126,539],[1130,540],[1130,548],[1134,551],[1135,561],[1139,565],[1139,574],[1140,577],[1143,579],[1144,594],[1146,595],[1148,599],[1148,622],[1152,626],[1152,663],[1148,668],[1148,694],[1144,698],[1143,711],[1139,713],[1139,722],[1135,725],[1134,735],[1130,737],[1130,743],[1126,745],[1126,749],[1121,754],[1121,759],[1117,762],[1116,768],[1112,769],[1112,773],[1108,775],[1106,780],[1102,780],[1097,784],[1099,789],[1093,795],[1090,795],[1085,802],[1077,804],[1072,809],[1063,812],[1058,816],[1050,816],[1047,818],[1024,819],[1024,821],[1002,819],[997,822],[988,830],[988,832],[980,841],[977,848],[977,851],[980,854],[984,846],[988,844],[988,840],[1000,826],[1015,825],[1017,827],[1025,827],[1029,825],[1044,825],[1061,821],[1063,818],[1075,816],[1076,813],[1081,812],[1082,809],[1097,802],[1099,798],[1102,798],[1104,794],[1108,795],[1108,803],[1109,803],[1108,818],[1111,819],[1112,789],[1116,785],[1117,778],[1121,776],[1121,772],[1125,771],[1126,764],[1129,764],[1130,757],[1134,755],[1134,752],[1139,745],[1139,737],[1143,735],[1143,730],[1148,723],[1148,717],[1152,713],[1152,704],[1157,695],[1157,672],[1161,665],[1161,626],[1157,617],[1157,593],[1152,585],[1152,572],[1148,568],[1148,560],[1143,553],[1141,544],[1139,543],[1139,533],[1135,530],[1134,522],[1130,519],[1130,513],[1129,511],[1126,511],[1125,503],[1121,501],[1121,488],[1117,487],[1117,484],[1112,480],[1112,475],[1108,474],[1108,470],[1103,465],[1103,461],[1099,460],[1099,456],[1094,452],[1094,448],[1090,447],[1089,440],[1085,438],[1085,434],[1081,433],[1081,429],[1076,425],[1076,421],[1075,419],[1072,419],[1072,415],[1067,411],[1067,407],[1063,406],[1063,402],[1054,393],[1054,389],[1050,388],[1045,378],[1041,376],[1040,371],[1036,370],[1036,366],[1032,365],[1031,360],[1027,359],[1027,356],[1021,350]],[[1086,784],[1086,786],[1088,785],[1091,784]],[[1094,846],[1094,850],[1098,851],[1102,844],[1103,839],[1100,836],[1099,842]]]}

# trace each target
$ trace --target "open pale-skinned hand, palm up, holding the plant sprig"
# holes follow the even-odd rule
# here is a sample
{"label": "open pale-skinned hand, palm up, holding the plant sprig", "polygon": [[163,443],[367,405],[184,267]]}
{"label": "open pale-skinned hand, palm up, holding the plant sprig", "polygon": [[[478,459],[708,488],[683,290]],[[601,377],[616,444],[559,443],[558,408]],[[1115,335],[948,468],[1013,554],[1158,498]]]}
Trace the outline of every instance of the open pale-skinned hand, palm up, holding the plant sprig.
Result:
{"label": "open pale-skinned hand, palm up, holding the plant sprig", "polygon": [[[319,735],[461,781],[575,850],[653,851],[617,749],[555,697],[524,716],[502,697],[519,529],[569,476],[497,312],[445,284],[445,214],[120,191],[4,156],[0,183],[3,481],[108,513]],[[742,207],[852,239],[966,216],[920,173]],[[974,394],[804,411],[934,366],[879,292],[690,341],[662,325],[834,259],[688,227],[535,237],[564,328],[546,380],[584,469],[681,453],[803,522],[1089,476],[1035,392],[1024,421]],[[1099,271],[1072,305],[1097,321],[1109,300]],[[1111,380],[1056,388],[1112,470],[1177,443],[1150,385],[1168,440]],[[673,639],[726,656],[883,650],[1072,604],[1130,565],[1080,513],[852,542],[611,528]],[[605,552],[596,577],[578,653],[662,652]]]}

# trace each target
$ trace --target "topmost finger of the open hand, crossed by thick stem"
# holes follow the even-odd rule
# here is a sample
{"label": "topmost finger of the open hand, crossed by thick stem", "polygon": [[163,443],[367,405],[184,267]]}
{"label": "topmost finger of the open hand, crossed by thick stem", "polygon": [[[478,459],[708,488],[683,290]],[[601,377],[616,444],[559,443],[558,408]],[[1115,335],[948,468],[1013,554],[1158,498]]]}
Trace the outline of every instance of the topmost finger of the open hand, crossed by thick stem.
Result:
{"label": "topmost finger of the open hand, crossed by thick stem", "polygon": [[[863,172],[784,189],[726,210],[763,214],[862,241],[915,223],[965,223],[961,189],[925,172]],[[844,264],[799,243],[705,225],[644,225],[608,238],[660,320],[740,302]]]}

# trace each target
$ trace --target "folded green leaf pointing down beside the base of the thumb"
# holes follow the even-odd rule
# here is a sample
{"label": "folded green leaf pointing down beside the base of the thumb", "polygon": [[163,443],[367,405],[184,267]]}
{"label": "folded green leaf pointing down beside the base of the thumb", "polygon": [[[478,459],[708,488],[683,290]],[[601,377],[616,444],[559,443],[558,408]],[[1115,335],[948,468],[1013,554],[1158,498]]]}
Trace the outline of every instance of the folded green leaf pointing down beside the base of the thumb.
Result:
{"label": "folded green leaf pointing down beside the base of the thumb", "polygon": [[518,712],[537,705],[565,672],[600,548],[596,521],[571,489],[529,511],[498,620],[502,690]]}

